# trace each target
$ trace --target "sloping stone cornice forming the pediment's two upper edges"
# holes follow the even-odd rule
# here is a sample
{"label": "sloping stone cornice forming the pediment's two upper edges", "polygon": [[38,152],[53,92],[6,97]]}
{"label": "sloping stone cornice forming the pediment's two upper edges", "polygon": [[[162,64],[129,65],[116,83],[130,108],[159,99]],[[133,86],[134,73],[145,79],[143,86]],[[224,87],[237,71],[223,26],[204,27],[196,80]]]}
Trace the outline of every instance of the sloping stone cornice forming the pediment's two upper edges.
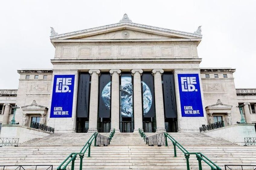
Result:
{"label": "sloping stone cornice forming the pediment's two upper edges", "polygon": [[193,36],[193,37],[197,37],[197,38],[202,38],[202,35],[199,35],[199,34],[196,34],[196,33],[176,31],[176,30],[172,30],[172,29],[160,28],[160,27],[156,27],[156,26],[148,26],[148,25],[143,25],[143,24],[138,24],[138,23],[121,22],[121,23],[114,23],[114,24],[110,24],[110,25],[84,29],[84,30],[80,30],[80,31],[74,31],[74,32],[68,32],[68,33],[64,33],[64,34],[54,35],[54,36],[50,36],[50,39],[63,38],[63,37],[66,37],[66,36],[73,36],[73,35],[77,35],[77,34],[93,32],[93,31],[98,31],[98,30],[106,30],[106,29],[113,28],[113,27],[118,27],[118,26],[134,26],[134,27],[143,28],[143,29],[150,29],[150,30],[155,30],[155,31],[174,33],[174,34],[178,34],[178,35]]}

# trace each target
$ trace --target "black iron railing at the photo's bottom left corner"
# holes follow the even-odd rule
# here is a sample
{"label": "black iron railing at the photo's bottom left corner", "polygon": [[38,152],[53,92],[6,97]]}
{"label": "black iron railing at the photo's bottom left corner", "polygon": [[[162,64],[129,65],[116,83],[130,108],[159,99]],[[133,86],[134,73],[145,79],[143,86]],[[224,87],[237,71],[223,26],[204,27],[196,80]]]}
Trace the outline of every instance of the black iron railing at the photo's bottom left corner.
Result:
{"label": "black iron railing at the photo's bottom left corner", "polygon": [[[2,168],[3,167],[3,168]],[[53,170],[53,165],[0,165],[1,170]]]}

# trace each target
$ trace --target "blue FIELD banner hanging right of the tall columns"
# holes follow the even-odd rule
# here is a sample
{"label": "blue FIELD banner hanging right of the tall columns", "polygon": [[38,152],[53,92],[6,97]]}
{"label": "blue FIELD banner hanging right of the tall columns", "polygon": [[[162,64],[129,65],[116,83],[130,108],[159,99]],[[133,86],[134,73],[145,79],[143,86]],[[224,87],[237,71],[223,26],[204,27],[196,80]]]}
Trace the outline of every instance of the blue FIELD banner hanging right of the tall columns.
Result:
{"label": "blue FIELD banner hanging right of the tall columns", "polygon": [[182,117],[203,117],[198,74],[178,74]]}

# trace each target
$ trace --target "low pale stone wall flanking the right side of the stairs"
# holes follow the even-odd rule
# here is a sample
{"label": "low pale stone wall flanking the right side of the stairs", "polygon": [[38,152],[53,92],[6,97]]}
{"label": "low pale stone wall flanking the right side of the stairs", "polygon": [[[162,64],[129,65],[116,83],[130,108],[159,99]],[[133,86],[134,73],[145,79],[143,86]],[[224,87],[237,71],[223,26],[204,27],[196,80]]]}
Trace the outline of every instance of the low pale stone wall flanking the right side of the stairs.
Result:
{"label": "low pale stone wall flanking the right side of the stairs", "polygon": [[235,124],[219,129],[205,131],[203,134],[213,138],[222,138],[242,146],[245,145],[244,138],[256,138],[254,124]]}

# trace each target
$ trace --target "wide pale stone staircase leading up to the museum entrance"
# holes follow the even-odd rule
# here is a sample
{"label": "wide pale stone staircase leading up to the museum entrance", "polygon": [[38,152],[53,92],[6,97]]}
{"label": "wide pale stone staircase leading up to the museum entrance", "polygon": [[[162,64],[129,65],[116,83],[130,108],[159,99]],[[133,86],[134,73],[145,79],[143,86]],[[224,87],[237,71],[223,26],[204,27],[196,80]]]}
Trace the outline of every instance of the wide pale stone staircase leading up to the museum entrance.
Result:
{"label": "wide pale stone staircase leading up to the museum entrance", "polygon": [[[153,133],[147,133],[151,135]],[[92,134],[55,133],[33,139],[18,147],[0,147],[0,165],[59,164],[72,152],[79,152]],[[107,136],[107,134],[104,134]],[[189,152],[202,152],[222,170],[225,164],[256,163],[255,146],[239,146],[200,133],[170,133]],[[82,139],[79,139],[82,138]],[[75,169],[79,169],[79,158]],[[198,161],[190,156],[190,169],[198,169]],[[203,169],[210,169],[202,162]],[[255,167],[254,167],[255,168]],[[38,167],[40,169],[40,167]],[[71,169],[71,165],[67,167]],[[184,154],[173,146],[147,146],[138,133],[116,133],[107,147],[91,147],[91,157],[85,155],[83,169],[177,169],[186,170]],[[8,169],[7,169],[8,170]]]}

